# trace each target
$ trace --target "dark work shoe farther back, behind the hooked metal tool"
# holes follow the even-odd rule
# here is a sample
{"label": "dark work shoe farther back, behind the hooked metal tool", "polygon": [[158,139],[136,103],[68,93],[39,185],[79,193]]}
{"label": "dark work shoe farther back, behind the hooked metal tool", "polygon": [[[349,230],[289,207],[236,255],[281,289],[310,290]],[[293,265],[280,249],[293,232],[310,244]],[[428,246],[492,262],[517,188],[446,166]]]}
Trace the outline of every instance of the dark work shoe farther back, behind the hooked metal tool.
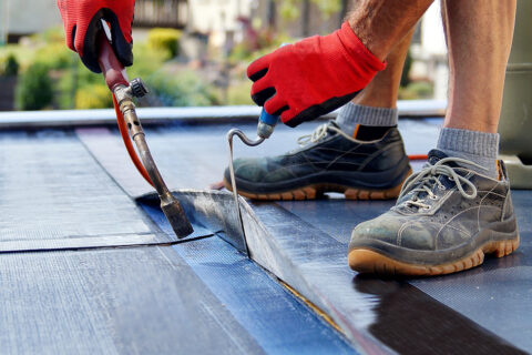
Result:
{"label": "dark work shoe farther back, behind the hooked metal tool", "polygon": [[[397,128],[366,142],[330,121],[298,142],[300,149],[284,155],[235,160],[238,193],[256,200],[310,200],[326,192],[350,200],[395,199],[411,173]],[[232,190],[228,169],[224,183]]]}

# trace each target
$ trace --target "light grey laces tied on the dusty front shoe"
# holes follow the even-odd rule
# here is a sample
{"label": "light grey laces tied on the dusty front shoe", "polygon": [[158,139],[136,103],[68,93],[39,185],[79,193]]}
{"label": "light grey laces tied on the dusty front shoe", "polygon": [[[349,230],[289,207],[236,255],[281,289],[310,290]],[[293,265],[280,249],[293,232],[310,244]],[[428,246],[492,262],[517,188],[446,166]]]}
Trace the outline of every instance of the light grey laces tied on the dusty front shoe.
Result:
{"label": "light grey laces tied on the dusty front shoe", "polygon": [[[453,181],[457,185],[458,191],[464,199],[472,200],[477,197],[477,186],[474,186],[474,184],[468,179],[459,175],[452,166],[446,165],[446,163],[449,162],[462,163],[481,170],[487,170],[485,168],[466,159],[444,158],[438,161],[436,164],[428,165],[421,171],[410,175],[402,185],[398,201],[400,201],[402,196],[405,196],[407,193],[413,192],[413,195],[410,197],[410,200],[405,201],[403,203],[407,206],[416,206],[422,210],[430,210],[431,206],[426,203],[426,199],[437,199],[436,194],[432,192],[433,187],[438,186],[438,189],[440,190],[446,189],[446,186],[440,181],[441,175],[444,175],[450,181]],[[469,186],[471,189],[471,193],[466,192],[463,185]]]}

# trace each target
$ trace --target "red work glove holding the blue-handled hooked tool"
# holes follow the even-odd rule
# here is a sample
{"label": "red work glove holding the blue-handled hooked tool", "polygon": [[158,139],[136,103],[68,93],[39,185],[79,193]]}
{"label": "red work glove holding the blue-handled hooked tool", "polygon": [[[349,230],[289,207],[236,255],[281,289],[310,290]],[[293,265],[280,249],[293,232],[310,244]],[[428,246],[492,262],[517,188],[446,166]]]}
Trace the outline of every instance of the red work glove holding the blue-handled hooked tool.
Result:
{"label": "red work glove holding the blue-handled hooked tool", "polygon": [[386,67],[346,22],[326,37],[311,37],[254,61],[247,77],[252,98],[269,114],[296,126],[346,104]]}

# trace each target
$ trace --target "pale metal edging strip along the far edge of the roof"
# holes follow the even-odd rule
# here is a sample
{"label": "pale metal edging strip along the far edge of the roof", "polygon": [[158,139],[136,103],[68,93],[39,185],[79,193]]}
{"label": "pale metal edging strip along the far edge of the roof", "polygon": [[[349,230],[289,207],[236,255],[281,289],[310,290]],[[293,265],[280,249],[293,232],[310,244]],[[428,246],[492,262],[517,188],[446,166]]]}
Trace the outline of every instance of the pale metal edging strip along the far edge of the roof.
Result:
{"label": "pale metal edging strip along the far edge of the roof", "polygon": [[[405,100],[397,103],[400,116],[442,116],[446,100]],[[140,108],[139,116],[144,125],[171,121],[257,120],[260,108],[255,105],[206,106],[206,108]],[[324,116],[331,119],[337,111]],[[74,128],[115,124],[114,110],[60,110],[60,111],[9,111],[0,112],[0,129]]]}

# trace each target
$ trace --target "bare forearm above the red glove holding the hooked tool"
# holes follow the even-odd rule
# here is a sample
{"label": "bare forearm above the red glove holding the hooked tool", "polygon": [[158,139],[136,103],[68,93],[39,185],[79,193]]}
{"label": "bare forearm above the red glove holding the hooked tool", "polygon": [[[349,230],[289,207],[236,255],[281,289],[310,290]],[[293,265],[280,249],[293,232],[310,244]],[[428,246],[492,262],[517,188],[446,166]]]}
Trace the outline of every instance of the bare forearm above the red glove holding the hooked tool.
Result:
{"label": "bare forearm above the red glove holding the hooked tool", "polygon": [[349,24],[360,41],[383,60],[432,2],[433,0],[360,0],[349,14]]}

